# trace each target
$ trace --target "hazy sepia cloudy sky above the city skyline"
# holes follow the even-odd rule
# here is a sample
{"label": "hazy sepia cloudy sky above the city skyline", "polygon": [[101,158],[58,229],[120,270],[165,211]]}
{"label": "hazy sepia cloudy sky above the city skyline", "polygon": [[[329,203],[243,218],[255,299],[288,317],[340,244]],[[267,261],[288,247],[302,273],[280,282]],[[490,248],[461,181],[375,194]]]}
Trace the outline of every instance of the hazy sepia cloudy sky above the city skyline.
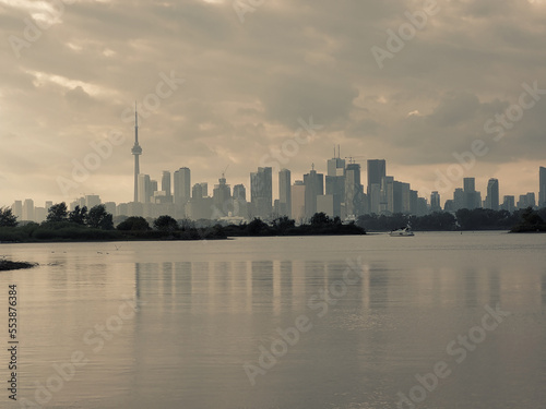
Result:
{"label": "hazy sepia cloudy sky above the city skyline", "polygon": [[537,193],[545,38],[538,0],[0,0],[0,206],[130,202],[135,103],[141,171],[210,193],[335,145],[442,202]]}

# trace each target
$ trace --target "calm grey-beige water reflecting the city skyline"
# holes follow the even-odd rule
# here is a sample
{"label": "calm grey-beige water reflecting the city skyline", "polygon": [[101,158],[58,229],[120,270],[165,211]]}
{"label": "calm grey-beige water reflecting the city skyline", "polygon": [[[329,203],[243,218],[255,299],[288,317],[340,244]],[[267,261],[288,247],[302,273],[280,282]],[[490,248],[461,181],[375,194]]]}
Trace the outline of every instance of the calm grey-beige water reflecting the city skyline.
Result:
{"label": "calm grey-beige water reflecting the city skyline", "polygon": [[500,232],[0,245],[40,263],[0,273],[4,386],[10,284],[20,329],[0,407],[545,408],[545,250]]}

